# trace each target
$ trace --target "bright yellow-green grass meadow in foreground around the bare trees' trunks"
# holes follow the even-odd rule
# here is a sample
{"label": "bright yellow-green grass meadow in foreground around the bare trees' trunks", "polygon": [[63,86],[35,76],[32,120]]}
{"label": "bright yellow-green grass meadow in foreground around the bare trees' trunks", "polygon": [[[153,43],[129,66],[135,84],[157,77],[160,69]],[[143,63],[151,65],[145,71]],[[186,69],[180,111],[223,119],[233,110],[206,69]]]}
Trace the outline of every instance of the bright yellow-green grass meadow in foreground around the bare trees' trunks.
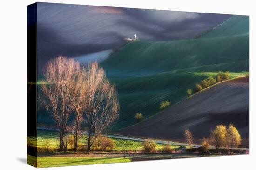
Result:
{"label": "bright yellow-green grass meadow in foreground around the bare trees' trunks", "polygon": [[[66,154],[63,155],[63,152],[55,152],[57,155],[52,155],[51,151],[57,150],[59,147],[59,139],[57,131],[49,131],[49,130],[38,130],[37,141],[33,137],[27,137],[31,146],[36,146],[42,151],[45,156],[38,156],[37,158],[34,156],[27,155],[27,163],[31,165],[37,165],[38,167],[54,167],[54,166],[70,166],[70,165],[86,165],[86,164],[104,164],[104,163],[121,163],[121,162],[130,162],[133,159],[137,158],[141,159],[161,159],[161,158],[178,158],[178,157],[196,157],[196,154],[128,154],[122,153],[122,151],[143,151],[143,146],[141,141],[134,141],[128,139],[118,139],[112,138],[115,143],[115,147],[113,148],[113,154],[108,154],[108,152],[95,152],[95,153],[83,153],[78,152],[76,154],[69,155],[70,153],[74,153],[73,151],[67,151]],[[79,139],[78,145],[83,146],[86,144],[87,135],[82,135]],[[50,152],[49,156],[47,156],[45,143],[49,141],[50,143]],[[178,148],[179,145],[172,145],[172,148]],[[70,149],[70,145],[67,146]],[[156,144],[156,150],[162,150],[164,145]],[[59,155],[58,155],[59,154]],[[76,156],[78,155],[78,156]],[[71,157],[72,156],[72,157]]]}

